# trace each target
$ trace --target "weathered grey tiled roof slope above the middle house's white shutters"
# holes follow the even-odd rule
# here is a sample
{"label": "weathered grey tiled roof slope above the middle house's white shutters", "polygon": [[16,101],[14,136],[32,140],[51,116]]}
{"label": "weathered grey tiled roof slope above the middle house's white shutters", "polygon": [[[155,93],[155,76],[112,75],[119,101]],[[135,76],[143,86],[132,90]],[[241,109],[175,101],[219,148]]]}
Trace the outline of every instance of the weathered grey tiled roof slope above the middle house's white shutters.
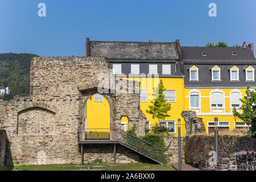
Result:
{"label": "weathered grey tiled roof slope above the middle house's white shutters", "polygon": [[90,41],[90,56],[107,59],[179,60],[176,43]]}

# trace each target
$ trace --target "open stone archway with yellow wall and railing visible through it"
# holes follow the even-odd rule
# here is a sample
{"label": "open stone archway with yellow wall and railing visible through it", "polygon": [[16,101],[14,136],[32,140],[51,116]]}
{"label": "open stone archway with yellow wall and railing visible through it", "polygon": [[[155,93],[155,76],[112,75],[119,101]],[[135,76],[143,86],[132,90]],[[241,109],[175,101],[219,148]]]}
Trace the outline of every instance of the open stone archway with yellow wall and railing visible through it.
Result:
{"label": "open stone archway with yellow wall and railing visible through it", "polygon": [[110,139],[112,104],[104,94],[90,94],[83,106],[84,138]]}

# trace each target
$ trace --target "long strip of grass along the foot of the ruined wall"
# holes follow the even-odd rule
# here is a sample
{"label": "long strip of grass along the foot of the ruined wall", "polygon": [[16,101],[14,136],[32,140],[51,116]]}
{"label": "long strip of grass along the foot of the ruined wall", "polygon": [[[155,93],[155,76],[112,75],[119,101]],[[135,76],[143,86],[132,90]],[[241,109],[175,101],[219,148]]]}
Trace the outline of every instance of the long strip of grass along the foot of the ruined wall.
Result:
{"label": "long strip of grass along the foot of the ruined wall", "polygon": [[[88,169],[88,164],[80,166],[80,164],[48,164],[48,165],[29,165],[29,166],[6,166],[4,170],[13,171],[15,168],[28,170],[28,171],[70,171],[74,169]],[[160,164],[148,164],[148,163],[126,163],[126,164],[114,164],[110,163],[92,163],[90,169],[108,169],[109,171],[175,171],[174,168],[160,165]]]}

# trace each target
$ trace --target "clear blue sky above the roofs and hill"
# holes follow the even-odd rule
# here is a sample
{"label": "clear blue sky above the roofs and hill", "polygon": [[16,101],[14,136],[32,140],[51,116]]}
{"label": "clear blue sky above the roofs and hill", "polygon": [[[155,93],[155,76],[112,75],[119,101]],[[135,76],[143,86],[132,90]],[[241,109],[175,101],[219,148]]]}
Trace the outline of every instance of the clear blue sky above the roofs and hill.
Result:
{"label": "clear blue sky above the roofs and hill", "polygon": [[[46,17],[38,4],[46,4]],[[216,3],[217,17],[208,15]],[[85,39],[256,44],[255,0],[0,0],[0,52],[84,56]]]}

